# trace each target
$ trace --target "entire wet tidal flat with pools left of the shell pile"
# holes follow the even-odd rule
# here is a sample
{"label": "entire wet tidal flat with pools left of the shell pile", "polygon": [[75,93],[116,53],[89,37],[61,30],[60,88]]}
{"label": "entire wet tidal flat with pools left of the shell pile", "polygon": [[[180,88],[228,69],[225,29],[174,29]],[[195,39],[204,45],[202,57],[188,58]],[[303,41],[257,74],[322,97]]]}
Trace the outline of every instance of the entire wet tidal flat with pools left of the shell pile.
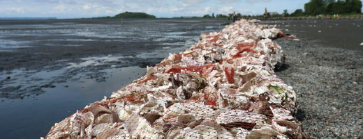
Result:
{"label": "entire wet tidal flat with pools left of the shell pile", "polygon": [[[4,56],[8,60],[6,54],[12,53],[25,58],[15,60],[19,63],[16,68],[0,71],[0,124],[6,125],[0,127],[1,138],[44,137],[54,123],[104,96],[110,97],[112,92],[145,74],[146,65],[158,63],[170,53],[184,51],[198,41],[200,33],[223,28],[222,22],[191,19],[132,20],[122,24],[119,20],[79,19],[0,21],[0,54],[3,54],[0,58]],[[108,51],[102,50],[124,42],[138,42],[133,46],[137,48],[128,49],[140,51],[107,54]],[[31,49],[87,49],[92,45],[100,49],[98,53],[63,56],[51,65],[25,67],[18,62],[23,60],[37,65],[48,60],[47,55],[29,60],[27,56],[38,53],[29,55]],[[147,49],[142,49],[144,47]]]}

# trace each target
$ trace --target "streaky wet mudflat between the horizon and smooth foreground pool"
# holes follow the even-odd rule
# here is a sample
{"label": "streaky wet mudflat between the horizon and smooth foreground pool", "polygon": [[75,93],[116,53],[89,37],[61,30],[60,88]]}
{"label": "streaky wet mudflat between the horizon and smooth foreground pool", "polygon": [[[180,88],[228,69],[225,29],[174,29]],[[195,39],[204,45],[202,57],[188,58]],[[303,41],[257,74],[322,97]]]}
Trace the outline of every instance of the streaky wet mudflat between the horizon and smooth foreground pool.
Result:
{"label": "streaky wet mudflat between the horizon and smooth foreground pool", "polygon": [[[43,88],[53,88],[54,83],[66,82],[80,72],[93,72],[86,78],[103,81],[103,73],[98,70],[154,65],[168,53],[190,47],[200,33],[220,30],[221,23],[191,19],[0,21],[0,97],[39,95]],[[145,56],[150,52],[156,54]],[[96,59],[98,65],[70,67],[91,57],[105,58]],[[114,60],[104,61],[110,58]],[[34,83],[44,80],[36,76],[18,81],[17,74],[29,79],[30,74],[42,71],[61,74],[44,83]]]}

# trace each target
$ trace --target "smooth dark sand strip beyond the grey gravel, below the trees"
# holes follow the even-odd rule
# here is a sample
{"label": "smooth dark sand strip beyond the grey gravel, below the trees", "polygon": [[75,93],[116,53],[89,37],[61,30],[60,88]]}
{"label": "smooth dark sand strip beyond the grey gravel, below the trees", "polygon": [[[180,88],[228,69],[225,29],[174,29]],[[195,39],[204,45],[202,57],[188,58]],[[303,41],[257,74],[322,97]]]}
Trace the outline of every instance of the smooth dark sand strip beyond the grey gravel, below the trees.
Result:
{"label": "smooth dark sand strip beyond the grey gravel, below the trees", "polygon": [[262,24],[276,24],[283,32],[298,35],[299,38],[322,40],[328,47],[363,50],[363,20],[278,20],[263,21]]}

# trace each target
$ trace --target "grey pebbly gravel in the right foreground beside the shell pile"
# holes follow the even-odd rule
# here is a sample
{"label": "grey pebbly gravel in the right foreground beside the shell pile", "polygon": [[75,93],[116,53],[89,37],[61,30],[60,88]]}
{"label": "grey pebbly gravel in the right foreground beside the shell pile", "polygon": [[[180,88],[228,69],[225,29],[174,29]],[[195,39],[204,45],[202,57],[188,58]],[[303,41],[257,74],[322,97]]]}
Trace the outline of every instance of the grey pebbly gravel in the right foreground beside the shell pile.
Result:
{"label": "grey pebbly gravel in the right foreground beside the shell pile", "polygon": [[286,54],[277,76],[297,93],[297,119],[311,138],[363,138],[363,51],[318,40],[276,40]]}

